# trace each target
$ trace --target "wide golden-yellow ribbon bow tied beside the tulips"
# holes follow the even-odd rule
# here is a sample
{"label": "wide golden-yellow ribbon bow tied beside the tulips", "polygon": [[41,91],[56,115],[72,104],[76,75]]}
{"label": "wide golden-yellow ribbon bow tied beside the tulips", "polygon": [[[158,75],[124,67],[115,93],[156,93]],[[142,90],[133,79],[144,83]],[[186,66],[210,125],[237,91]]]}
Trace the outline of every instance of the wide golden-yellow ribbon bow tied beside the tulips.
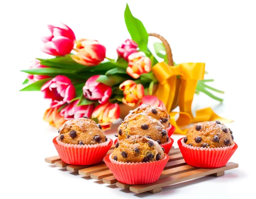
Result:
{"label": "wide golden-yellow ribbon bow tied beside the tulips", "polygon": [[[181,130],[179,126],[186,126],[191,122],[233,121],[219,117],[211,108],[197,110],[196,117],[193,116],[191,105],[197,82],[204,79],[204,68],[205,63],[181,63],[170,67],[165,62],[157,63],[152,68],[154,76],[159,81],[154,95],[166,105],[166,109],[171,117],[170,123],[176,128],[175,133],[186,134],[186,129]],[[177,102],[181,112],[171,112]],[[175,117],[177,114],[179,114],[179,117],[176,121]]]}

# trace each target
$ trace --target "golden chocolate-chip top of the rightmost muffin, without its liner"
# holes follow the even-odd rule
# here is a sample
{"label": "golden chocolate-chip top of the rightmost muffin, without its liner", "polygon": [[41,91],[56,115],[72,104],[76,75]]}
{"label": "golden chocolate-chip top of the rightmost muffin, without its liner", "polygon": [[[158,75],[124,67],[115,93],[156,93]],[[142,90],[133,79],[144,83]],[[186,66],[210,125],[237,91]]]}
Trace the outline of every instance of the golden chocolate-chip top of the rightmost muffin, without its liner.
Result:
{"label": "golden chocolate-chip top of the rightmost muffin, without its liner", "polygon": [[188,129],[184,142],[194,147],[217,148],[233,144],[230,128],[219,121],[200,122]]}

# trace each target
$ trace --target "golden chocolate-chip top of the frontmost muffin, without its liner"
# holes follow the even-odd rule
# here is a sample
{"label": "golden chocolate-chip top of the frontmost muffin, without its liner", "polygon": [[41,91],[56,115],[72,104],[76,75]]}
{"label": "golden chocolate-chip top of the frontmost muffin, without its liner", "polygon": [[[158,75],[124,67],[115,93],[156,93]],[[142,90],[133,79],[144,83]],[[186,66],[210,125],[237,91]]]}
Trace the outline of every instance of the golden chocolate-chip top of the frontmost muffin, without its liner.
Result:
{"label": "golden chocolate-chip top of the frontmost muffin, without its liner", "polygon": [[130,136],[116,142],[112,158],[120,162],[153,162],[164,158],[163,148],[147,137]]}

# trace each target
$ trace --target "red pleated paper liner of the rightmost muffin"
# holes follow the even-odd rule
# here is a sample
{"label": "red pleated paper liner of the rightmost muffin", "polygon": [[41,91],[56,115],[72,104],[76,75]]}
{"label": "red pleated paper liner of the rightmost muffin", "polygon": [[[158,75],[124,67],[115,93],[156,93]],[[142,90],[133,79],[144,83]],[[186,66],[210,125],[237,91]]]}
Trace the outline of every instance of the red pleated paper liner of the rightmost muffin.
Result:
{"label": "red pleated paper liner of the rightmost muffin", "polygon": [[184,143],[184,138],[178,140],[180,152],[188,165],[199,168],[218,168],[227,164],[238,145],[223,148],[193,147]]}

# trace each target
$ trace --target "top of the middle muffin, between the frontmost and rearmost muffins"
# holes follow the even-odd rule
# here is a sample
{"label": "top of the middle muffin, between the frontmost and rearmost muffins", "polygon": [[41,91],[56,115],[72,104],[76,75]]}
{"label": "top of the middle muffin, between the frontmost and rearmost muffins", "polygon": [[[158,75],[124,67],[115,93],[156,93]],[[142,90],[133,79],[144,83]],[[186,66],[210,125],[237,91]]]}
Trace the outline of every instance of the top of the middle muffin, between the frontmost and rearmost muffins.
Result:
{"label": "top of the middle muffin, between the frontmost and rearmost muffins", "polygon": [[126,139],[132,135],[142,135],[157,141],[158,144],[168,142],[166,128],[159,119],[148,115],[135,114],[125,119],[118,128],[118,139]]}

